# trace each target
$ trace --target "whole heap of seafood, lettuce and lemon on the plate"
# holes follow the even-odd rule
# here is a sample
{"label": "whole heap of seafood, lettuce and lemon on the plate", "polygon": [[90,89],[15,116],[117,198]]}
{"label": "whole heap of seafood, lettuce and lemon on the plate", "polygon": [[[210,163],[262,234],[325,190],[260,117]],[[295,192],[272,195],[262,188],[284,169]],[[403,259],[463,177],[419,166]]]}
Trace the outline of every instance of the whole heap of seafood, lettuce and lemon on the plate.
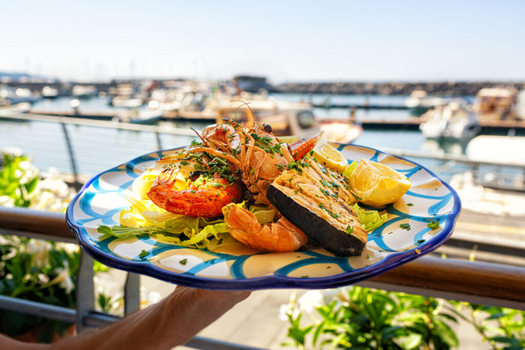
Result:
{"label": "whole heap of seafood, lettuce and lemon on the plate", "polygon": [[338,256],[361,254],[367,231],[386,220],[386,214],[356,203],[363,193],[366,203],[383,203],[377,190],[363,192],[363,177],[383,189],[395,178],[392,169],[361,161],[352,163],[352,172],[319,135],[287,144],[270,125],[224,121],[206,126],[198,134],[202,142],[164,156],[135,179],[121,225],[99,226],[99,232],[119,238],[148,234],[197,248],[212,239],[217,246],[235,239],[261,251],[294,251],[310,242]]}

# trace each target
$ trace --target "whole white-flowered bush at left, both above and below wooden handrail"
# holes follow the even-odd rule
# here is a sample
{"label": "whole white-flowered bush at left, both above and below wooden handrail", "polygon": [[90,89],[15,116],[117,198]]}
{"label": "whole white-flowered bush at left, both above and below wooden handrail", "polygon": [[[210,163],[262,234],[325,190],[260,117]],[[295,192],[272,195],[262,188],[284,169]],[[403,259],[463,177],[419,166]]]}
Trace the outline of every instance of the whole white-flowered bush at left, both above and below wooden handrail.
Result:
{"label": "whole white-flowered bush at left, both above and below wooden handrail", "polygon": [[[39,171],[26,156],[0,156],[0,206],[21,206],[64,211],[73,191],[50,172],[39,181]],[[0,236],[0,294],[64,307],[76,307],[75,281],[80,262],[77,245]],[[108,271],[96,262],[95,273]],[[114,299],[114,298],[113,298]],[[114,304],[100,298],[102,309]],[[111,303],[109,303],[111,302]],[[55,332],[63,335],[71,324],[19,312],[0,310],[0,333],[16,336],[39,327],[37,342],[49,343]]]}

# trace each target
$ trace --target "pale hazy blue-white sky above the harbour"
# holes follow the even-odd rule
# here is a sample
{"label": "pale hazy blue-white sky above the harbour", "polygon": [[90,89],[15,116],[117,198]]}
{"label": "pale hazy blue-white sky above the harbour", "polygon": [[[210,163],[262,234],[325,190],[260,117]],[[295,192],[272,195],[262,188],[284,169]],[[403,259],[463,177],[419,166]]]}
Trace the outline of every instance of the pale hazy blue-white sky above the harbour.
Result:
{"label": "pale hazy blue-white sky above the harbour", "polygon": [[523,1],[3,1],[0,71],[525,80]]}

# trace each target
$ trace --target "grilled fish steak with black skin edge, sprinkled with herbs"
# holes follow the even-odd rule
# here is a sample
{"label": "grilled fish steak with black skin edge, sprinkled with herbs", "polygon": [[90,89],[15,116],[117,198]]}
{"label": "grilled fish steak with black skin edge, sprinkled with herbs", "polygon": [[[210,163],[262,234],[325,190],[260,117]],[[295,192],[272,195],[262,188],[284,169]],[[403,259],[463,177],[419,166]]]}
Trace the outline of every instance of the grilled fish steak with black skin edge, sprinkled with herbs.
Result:
{"label": "grilled fish steak with black skin edge, sprinkled with herbs", "polygon": [[268,188],[268,200],[293,225],[337,256],[360,255],[367,233],[350,206],[346,178],[305,157]]}

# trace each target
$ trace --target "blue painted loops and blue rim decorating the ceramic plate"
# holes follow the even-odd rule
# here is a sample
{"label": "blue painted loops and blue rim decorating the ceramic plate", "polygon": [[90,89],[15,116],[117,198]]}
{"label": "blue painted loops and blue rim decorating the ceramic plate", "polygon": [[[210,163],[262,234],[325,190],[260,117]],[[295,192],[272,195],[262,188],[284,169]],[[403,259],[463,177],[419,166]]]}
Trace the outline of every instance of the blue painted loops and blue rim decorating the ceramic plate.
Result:
{"label": "blue painted loops and blue rim decorating the ceramic plate", "polygon": [[[353,146],[353,145],[339,145],[338,149],[343,150],[348,147],[354,147],[355,149],[365,149],[370,150],[369,147],[363,146]],[[377,161],[380,154],[386,155],[377,150],[370,160]],[[429,172],[421,165],[417,165],[413,162],[406,161],[404,158],[399,158],[406,162],[414,164],[414,167],[409,169],[397,169],[398,172],[404,173],[405,176],[411,177],[413,174],[418,171],[424,170],[430,176],[431,179],[438,179],[447,189],[448,193],[443,196],[429,196],[420,193],[412,192],[409,190],[406,194],[414,197],[436,200],[436,203],[428,208],[428,216],[419,216],[419,215],[410,215],[404,213],[403,211],[397,210],[394,208],[393,204],[387,205],[384,210],[386,213],[393,215],[394,217],[386,221],[381,227],[376,228],[369,234],[369,242],[374,242],[379,249],[384,252],[390,253],[387,256],[383,257],[380,261],[375,262],[369,266],[366,266],[361,269],[354,269],[349,263],[348,258],[335,257],[327,254],[322,254],[316,251],[300,251],[302,256],[305,258],[291,262],[286,266],[278,268],[274,271],[273,275],[261,276],[259,278],[247,279],[244,272],[244,264],[246,260],[254,255],[265,254],[264,252],[258,254],[248,254],[248,255],[232,255],[226,253],[214,252],[211,250],[204,249],[206,254],[212,258],[201,263],[198,263],[196,266],[191,267],[189,270],[183,273],[176,273],[169,270],[164,270],[155,266],[150,262],[151,257],[158,256],[158,254],[174,250],[174,249],[188,249],[187,247],[180,247],[173,245],[172,243],[164,243],[156,241],[149,236],[139,236],[138,239],[151,245],[151,248],[148,250],[149,254],[146,257],[135,256],[133,259],[124,259],[115,252],[113,252],[109,244],[118,238],[108,237],[102,240],[93,239],[87,232],[84,227],[88,222],[98,221],[102,225],[119,225],[118,222],[114,222],[112,219],[113,215],[119,213],[120,210],[127,208],[128,206],[122,206],[108,210],[104,213],[97,213],[93,210],[92,201],[99,194],[113,194],[121,198],[124,198],[125,190],[131,186],[133,180],[139,175],[135,172],[135,167],[137,165],[152,162],[158,160],[160,157],[172,153],[170,151],[159,151],[151,154],[146,154],[141,157],[135,158],[134,160],[122,164],[116,168],[110,169],[106,172],[103,172],[89,181],[80,191],[80,193],[75,197],[71,202],[67,210],[67,224],[68,227],[77,235],[80,245],[87,250],[95,259],[98,259],[102,263],[106,263],[109,266],[120,268],[132,272],[138,272],[143,274],[151,275],[162,280],[175,282],[178,284],[192,285],[193,287],[208,288],[208,289],[221,289],[221,290],[243,290],[243,289],[268,289],[268,288],[329,288],[329,287],[338,287],[339,285],[350,284],[359,280],[363,280],[378,273],[390,270],[400,264],[413,260],[418,256],[421,256],[425,253],[428,253],[440,245],[442,245],[448,237],[451,235],[455,220],[459,215],[460,211],[460,201],[457,193],[452,189],[448,184],[440,181],[437,176],[432,172]],[[123,181],[122,184],[116,189],[104,189],[100,185],[101,177],[110,172],[122,172],[125,173],[123,178],[126,178],[128,181]],[[439,210],[442,209],[445,205],[449,203],[451,199],[454,199],[453,209],[447,214],[439,214]],[[79,203],[80,211],[83,216],[88,216],[85,219],[76,219],[75,218],[75,204]],[[375,208],[373,208],[375,209]],[[384,229],[389,225],[401,221],[404,219],[409,219],[413,221],[425,222],[428,223],[431,220],[437,220],[441,224],[445,223],[442,226],[442,230],[438,234],[429,240],[425,241],[421,245],[418,245],[418,242],[421,242],[424,235],[427,234],[431,229],[426,227],[419,230],[413,237],[413,248],[396,250],[388,245],[384,241]],[[416,248],[419,253],[415,253]],[[381,251],[380,250],[380,251]],[[202,249],[201,249],[202,251]],[[221,262],[231,262],[229,266],[229,273],[232,279],[215,279],[207,277],[199,277],[197,274],[206,268]],[[329,277],[320,277],[320,278],[294,278],[289,277],[289,275],[301,267],[310,266],[312,264],[335,264],[344,273],[339,275],[332,275]]]}

